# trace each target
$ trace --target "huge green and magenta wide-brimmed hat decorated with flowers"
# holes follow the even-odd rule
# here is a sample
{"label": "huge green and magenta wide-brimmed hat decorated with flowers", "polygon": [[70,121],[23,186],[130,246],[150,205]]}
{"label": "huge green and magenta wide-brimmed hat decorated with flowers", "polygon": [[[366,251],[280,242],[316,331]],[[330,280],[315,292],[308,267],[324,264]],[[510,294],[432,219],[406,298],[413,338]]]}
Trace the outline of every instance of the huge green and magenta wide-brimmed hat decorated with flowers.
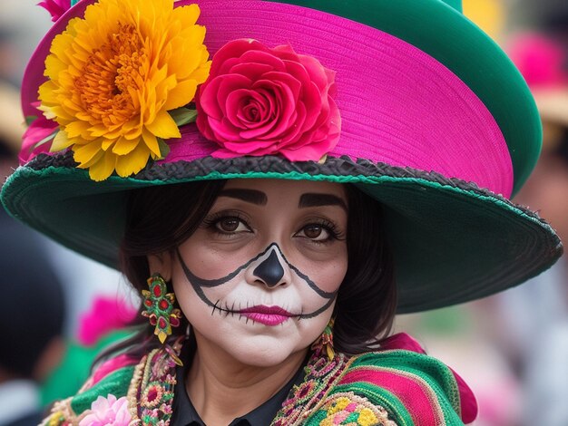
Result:
{"label": "huge green and magenta wide-brimmed hat decorated with flowers", "polygon": [[508,200],[540,150],[534,100],[456,0],[83,0],[23,88],[25,115],[39,91],[44,116],[5,208],[109,266],[132,189],[208,179],[328,180],[377,199],[400,313],[491,295],[562,253]]}

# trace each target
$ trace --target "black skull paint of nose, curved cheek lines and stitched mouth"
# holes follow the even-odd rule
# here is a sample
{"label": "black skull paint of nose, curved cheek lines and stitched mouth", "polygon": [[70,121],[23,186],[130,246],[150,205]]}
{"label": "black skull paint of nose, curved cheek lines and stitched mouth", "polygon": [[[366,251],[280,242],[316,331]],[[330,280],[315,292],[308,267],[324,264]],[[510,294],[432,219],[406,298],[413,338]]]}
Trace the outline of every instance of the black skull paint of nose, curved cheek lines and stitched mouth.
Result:
{"label": "black skull paint of nose, curved cheek lines and stitched mouth", "polygon": [[[177,250],[177,256],[183,269],[188,282],[193,287],[193,290],[206,305],[212,308],[211,315],[215,314],[218,310],[219,313],[226,313],[230,315],[240,315],[240,317],[245,317],[247,319],[252,319],[253,321],[258,321],[266,325],[278,325],[290,318],[302,319],[302,318],[312,318],[314,316],[320,315],[325,312],[328,307],[335,300],[337,291],[326,292],[319,288],[316,283],[309,279],[305,274],[302,274],[296,266],[293,266],[282,254],[278,244],[272,243],[266,250],[257,257],[250,259],[244,265],[241,265],[237,270],[231,272],[227,276],[223,276],[218,279],[204,279],[193,274],[190,268],[185,264],[183,258],[181,257],[180,251]],[[250,267],[251,265],[256,265],[253,270],[253,275],[258,276],[259,279],[269,288],[274,288],[281,283],[281,279],[284,276],[284,268],[280,264],[279,257],[284,260],[286,266],[293,272],[293,274],[300,282],[307,287],[309,287],[313,292],[318,294],[322,298],[322,305],[318,307],[313,312],[289,312],[280,306],[266,306],[266,305],[254,305],[251,301],[232,301],[232,303],[223,302],[217,299],[215,302],[211,300],[207,295],[207,289],[216,286],[222,286],[230,283],[233,279],[239,279],[242,271]],[[261,259],[261,260],[260,260]],[[259,263],[260,261],[260,263]]]}

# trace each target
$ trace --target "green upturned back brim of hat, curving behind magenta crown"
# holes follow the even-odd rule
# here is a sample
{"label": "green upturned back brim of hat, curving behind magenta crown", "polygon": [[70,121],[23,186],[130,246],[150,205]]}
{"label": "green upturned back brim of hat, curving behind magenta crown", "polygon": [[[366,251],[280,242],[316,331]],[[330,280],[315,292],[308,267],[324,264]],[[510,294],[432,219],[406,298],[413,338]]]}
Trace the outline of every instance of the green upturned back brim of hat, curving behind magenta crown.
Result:
{"label": "green upturned back brim of hat, curving behind magenta crown", "polygon": [[524,78],[503,50],[461,13],[461,1],[279,0],[344,16],[415,45],[457,75],[491,111],[513,160],[514,193],[534,169],[541,121]]}

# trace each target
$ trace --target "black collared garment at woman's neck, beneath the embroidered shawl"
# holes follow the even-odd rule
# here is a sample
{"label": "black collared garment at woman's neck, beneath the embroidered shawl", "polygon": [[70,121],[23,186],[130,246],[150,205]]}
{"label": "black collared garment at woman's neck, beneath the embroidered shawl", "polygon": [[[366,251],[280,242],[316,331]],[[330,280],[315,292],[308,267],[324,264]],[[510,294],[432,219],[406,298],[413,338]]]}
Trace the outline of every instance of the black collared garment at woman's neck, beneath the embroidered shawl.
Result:
{"label": "black collared garment at woman's neck, beneath the embroidered shawl", "polygon": [[[186,344],[191,347],[193,344]],[[194,347],[194,346],[193,346]],[[184,348],[185,349],[185,348]],[[191,349],[190,349],[191,350]],[[194,350],[194,349],[193,349]],[[187,369],[191,366],[192,353],[189,357],[181,359],[188,360],[183,363],[182,367],[176,368],[177,382],[174,388],[174,399],[171,415],[171,426],[206,426],[201,420],[200,415],[193,407],[190,397],[186,392],[184,377]],[[231,421],[229,426],[267,426],[276,417],[276,414],[282,407],[282,403],[286,401],[290,389],[293,385],[299,385],[304,380],[304,364],[299,368],[298,372],[284,385],[269,401],[264,402],[260,407],[248,412],[244,416],[238,417]]]}

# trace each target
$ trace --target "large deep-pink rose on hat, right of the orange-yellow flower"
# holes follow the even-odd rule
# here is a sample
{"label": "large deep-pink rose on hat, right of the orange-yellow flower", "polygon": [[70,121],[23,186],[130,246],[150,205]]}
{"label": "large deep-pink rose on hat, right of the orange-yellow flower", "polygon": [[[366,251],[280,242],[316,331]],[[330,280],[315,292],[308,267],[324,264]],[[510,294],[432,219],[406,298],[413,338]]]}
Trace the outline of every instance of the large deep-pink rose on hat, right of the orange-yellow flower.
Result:
{"label": "large deep-pink rose on hat, right of the orange-yellow flower", "polygon": [[281,154],[320,160],[338,143],[335,72],[289,45],[235,40],[215,54],[197,102],[197,127],[220,145],[213,157]]}

